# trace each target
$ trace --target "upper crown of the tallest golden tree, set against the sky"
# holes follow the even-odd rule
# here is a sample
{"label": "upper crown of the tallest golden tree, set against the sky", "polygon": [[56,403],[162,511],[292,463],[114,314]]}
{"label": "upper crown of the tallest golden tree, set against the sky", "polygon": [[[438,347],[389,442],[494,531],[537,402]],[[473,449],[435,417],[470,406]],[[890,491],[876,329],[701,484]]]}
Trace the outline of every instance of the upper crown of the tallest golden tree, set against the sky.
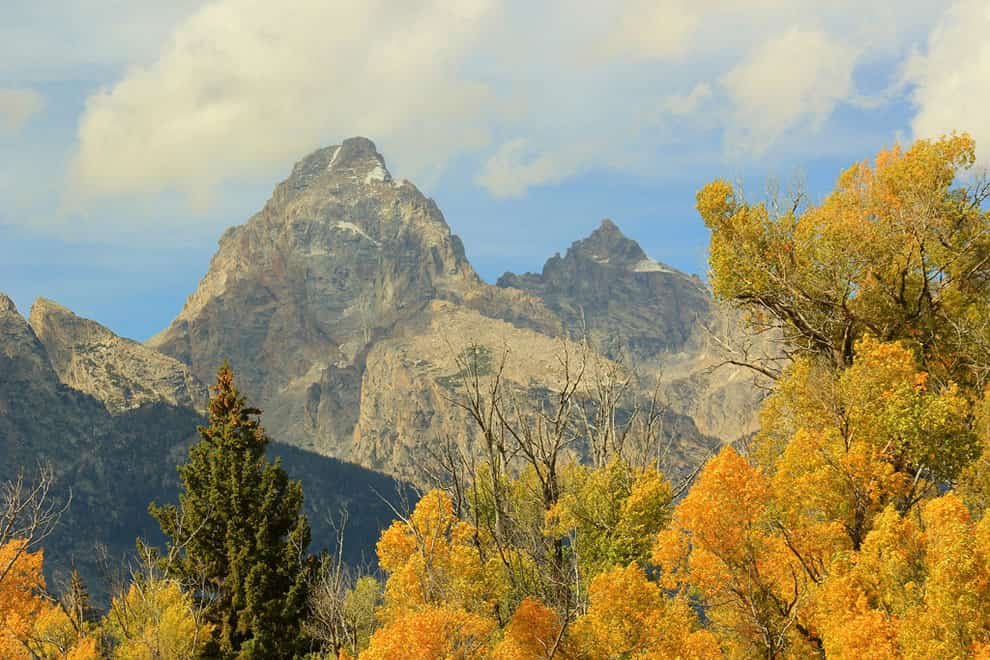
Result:
{"label": "upper crown of the tallest golden tree, set against the sky", "polygon": [[748,204],[724,180],[698,192],[715,294],[792,350],[852,363],[872,333],[906,340],[940,381],[986,382],[990,218],[967,135],[895,147],[843,172],[818,206]]}

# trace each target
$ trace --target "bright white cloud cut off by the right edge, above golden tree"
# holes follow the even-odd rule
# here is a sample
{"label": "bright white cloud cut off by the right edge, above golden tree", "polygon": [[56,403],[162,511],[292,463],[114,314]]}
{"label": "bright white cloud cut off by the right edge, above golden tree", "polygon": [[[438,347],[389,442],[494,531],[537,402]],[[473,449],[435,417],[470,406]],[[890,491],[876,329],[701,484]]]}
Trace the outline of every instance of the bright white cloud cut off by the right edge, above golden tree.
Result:
{"label": "bright white cloud cut off by the right edge, above golden tree", "polygon": [[907,78],[915,85],[915,137],[952,131],[976,139],[977,157],[990,166],[990,3],[956,2],[932,31],[927,52],[912,59]]}

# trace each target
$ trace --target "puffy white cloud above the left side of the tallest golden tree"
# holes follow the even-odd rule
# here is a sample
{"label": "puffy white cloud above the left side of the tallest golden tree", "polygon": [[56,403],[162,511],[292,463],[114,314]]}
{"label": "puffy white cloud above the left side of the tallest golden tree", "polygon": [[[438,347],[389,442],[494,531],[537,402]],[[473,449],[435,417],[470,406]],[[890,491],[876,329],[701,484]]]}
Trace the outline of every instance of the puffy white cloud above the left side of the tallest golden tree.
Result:
{"label": "puffy white cloud above the left side of the tallest golden tree", "polygon": [[792,28],[754,49],[721,83],[734,104],[730,150],[766,151],[797,125],[818,128],[854,92],[857,49]]}

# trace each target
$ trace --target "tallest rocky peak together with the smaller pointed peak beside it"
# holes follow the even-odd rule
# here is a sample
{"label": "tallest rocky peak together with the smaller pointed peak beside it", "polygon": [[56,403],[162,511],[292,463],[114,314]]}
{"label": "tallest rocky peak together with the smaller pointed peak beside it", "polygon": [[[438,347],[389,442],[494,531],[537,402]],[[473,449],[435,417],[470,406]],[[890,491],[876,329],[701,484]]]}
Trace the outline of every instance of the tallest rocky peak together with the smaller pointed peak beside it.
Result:
{"label": "tallest rocky peak together with the smaller pointed peak beside it", "polygon": [[[417,481],[424,445],[476,440],[450,404],[468,345],[507,351],[513,386],[541,390],[556,382],[560,341],[579,339],[582,323],[605,359],[618,340],[651,373],[672,356],[710,366],[694,358],[699,319],[712,313],[700,281],[652,261],[610,221],[542,275],[486,284],[436,203],[394,180],[371,141],[352,138],[305,157],[260,212],[221,236],[196,291],[147,345],[203,381],[228,360],[284,442]],[[708,384],[688,389],[705,395]],[[709,427],[724,437],[669,411],[685,466],[749,430],[752,410],[721,414],[720,402],[740,403],[718,394],[698,410],[721,418]]]}

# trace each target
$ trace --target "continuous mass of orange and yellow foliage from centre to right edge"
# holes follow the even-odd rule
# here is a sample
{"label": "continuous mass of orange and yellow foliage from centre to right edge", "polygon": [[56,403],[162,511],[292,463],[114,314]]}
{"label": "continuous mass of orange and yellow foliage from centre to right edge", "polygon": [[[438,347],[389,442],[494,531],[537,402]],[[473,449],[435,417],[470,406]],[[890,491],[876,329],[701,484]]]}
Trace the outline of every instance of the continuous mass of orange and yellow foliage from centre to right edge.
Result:
{"label": "continuous mass of orange and yellow foliage from centre to right edge", "polygon": [[[760,432],[676,505],[618,460],[564,470],[540,527],[572,567],[563,609],[428,494],[379,543],[371,649],[419,630],[428,657],[990,656],[990,189],[965,185],[973,162],[954,135],[855,165],[817,206],[702,189],[713,289],[779,346],[752,365],[774,380]],[[436,608],[464,625],[432,625]]]}

